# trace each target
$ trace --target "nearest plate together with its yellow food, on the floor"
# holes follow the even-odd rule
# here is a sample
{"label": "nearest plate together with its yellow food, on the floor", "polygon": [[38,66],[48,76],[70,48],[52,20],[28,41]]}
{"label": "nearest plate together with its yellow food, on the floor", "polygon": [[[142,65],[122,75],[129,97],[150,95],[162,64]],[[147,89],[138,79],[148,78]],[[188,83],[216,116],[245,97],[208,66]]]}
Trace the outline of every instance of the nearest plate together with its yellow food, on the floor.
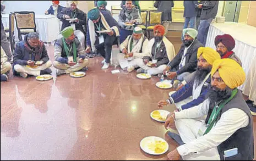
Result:
{"label": "nearest plate together with its yellow food, on the floor", "polygon": [[169,145],[160,137],[149,136],[140,141],[140,148],[148,154],[161,155],[168,151]]}

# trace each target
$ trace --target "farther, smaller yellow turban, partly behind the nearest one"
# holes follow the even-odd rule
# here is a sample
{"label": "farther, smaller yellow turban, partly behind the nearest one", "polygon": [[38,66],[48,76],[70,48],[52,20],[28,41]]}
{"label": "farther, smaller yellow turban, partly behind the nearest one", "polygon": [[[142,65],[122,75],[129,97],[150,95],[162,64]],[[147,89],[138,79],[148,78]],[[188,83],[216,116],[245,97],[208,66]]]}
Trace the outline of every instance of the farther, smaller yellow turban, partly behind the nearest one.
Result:
{"label": "farther, smaller yellow turban, partly behind the nearest one", "polygon": [[221,59],[220,54],[210,47],[199,47],[197,51],[197,58],[201,55],[211,65],[213,65],[215,60]]}

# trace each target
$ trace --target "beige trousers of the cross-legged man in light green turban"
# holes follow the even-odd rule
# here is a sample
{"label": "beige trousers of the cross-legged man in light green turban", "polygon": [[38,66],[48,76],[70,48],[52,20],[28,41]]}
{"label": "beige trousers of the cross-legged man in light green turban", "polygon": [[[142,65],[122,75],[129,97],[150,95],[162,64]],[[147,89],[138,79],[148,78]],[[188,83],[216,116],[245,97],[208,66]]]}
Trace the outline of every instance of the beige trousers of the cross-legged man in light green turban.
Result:
{"label": "beige trousers of the cross-legged man in light green turban", "polygon": [[83,63],[77,63],[74,66],[69,66],[68,64],[63,64],[63,63],[59,63],[57,61],[53,62],[53,66],[56,69],[60,69],[60,70],[65,70],[67,74],[75,72],[75,71],[79,71],[81,69],[83,69],[85,66],[89,65],[89,60],[88,59],[84,59]]}

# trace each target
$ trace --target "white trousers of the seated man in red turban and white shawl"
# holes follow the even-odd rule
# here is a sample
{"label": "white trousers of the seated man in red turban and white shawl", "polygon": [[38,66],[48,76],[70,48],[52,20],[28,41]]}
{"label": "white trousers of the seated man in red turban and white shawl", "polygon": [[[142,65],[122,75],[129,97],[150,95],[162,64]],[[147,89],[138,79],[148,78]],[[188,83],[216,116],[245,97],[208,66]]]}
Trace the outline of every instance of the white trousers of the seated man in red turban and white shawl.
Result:
{"label": "white trousers of the seated man in red turban and white shawl", "polygon": [[148,65],[144,64],[143,59],[135,59],[135,63],[142,69],[148,70],[148,74],[150,75],[157,75],[157,74],[162,74],[163,71],[166,68],[166,64],[160,65],[154,68],[149,67]]}

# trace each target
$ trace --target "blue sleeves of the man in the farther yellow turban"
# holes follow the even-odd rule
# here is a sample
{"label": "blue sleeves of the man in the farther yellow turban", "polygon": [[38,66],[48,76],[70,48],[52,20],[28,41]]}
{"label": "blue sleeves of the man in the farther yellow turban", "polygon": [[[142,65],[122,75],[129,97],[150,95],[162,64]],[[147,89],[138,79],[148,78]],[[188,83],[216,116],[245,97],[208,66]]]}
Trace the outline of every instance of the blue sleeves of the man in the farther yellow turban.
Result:
{"label": "blue sleeves of the man in the farther yellow turban", "polygon": [[[201,89],[200,96],[197,99],[193,99],[191,102],[184,104],[181,107],[182,110],[192,108],[194,106],[198,106],[199,104],[203,103],[206,99],[206,94],[209,91],[210,84],[211,84],[211,77],[209,76],[208,80],[206,80],[206,82],[204,83]],[[170,101],[171,104],[178,103],[192,96],[193,86],[194,86],[194,81],[190,81],[188,84],[182,87],[181,90],[178,90],[177,92],[173,93],[171,97],[168,99],[168,101]]]}

